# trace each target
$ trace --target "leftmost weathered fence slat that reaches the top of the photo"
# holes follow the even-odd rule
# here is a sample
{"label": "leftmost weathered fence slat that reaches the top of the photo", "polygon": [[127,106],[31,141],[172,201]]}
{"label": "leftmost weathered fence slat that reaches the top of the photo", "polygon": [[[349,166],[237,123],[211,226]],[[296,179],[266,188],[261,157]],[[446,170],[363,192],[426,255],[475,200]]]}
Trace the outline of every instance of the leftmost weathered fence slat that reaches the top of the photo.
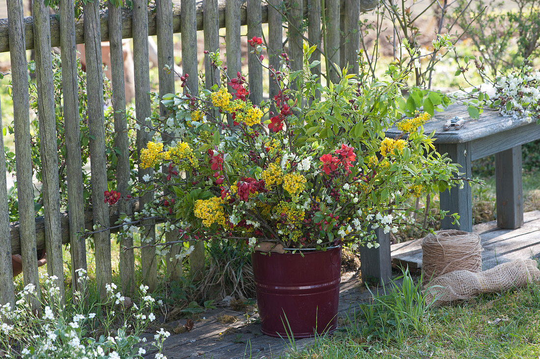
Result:
{"label": "leftmost weathered fence slat that reaches the top of the photo", "polygon": [[[8,0],[8,18],[23,277],[25,284],[33,283],[36,286],[37,297],[39,297],[32,158],[30,152],[28,65],[26,64],[22,0]],[[39,310],[38,303],[37,298],[31,299],[33,310]]]}

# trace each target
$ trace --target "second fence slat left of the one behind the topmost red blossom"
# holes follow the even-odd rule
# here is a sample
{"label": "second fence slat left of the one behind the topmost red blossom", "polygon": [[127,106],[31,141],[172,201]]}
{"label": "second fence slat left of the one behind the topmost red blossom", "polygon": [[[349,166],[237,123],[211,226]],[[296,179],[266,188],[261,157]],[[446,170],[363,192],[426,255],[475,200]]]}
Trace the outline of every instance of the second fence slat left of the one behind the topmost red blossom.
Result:
{"label": "second fence slat left of the one behind the topmost red blossom", "polygon": [[[203,3],[204,49],[210,52],[219,50],[218,0],[204,0]],[[205,87],[210,89],[219,85],[219,72],[214,73],[210,56],[205,55]]]}

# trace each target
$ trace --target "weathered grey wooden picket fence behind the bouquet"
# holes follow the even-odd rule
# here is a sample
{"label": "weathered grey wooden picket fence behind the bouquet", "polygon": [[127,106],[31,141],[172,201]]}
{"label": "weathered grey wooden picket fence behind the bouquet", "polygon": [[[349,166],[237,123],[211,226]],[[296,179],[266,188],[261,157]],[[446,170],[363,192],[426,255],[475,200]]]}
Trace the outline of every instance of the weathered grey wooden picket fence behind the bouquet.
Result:
{"label": "weathered grey wooden picket fence behind the bouquet", "polygon": [[[119,213],[130,214],[130,202],[120,201],[116,213],[110,213],[109,205],[103,201],[107,189],[105,126],[103,109],[103,69],[101,42],[110,41],[112,70],[112,107],[114,110],[114,146],[120,151],[116,175],[118,191],[126,193],[130,178],[126,109],[124,97],[124,68],[122,39],[133,38],[134,77],[136,86],[135,106],[137,120],[144,123],[150,117],[150,78],[148,61],[148,37],[157,35],[159,62],[159,95],[174,92],[174,74],[165,70],[173,67],[173,33],[181,32],[181,59],[185,73],[197,73],[201,55],[197,53],[197,30],[204,31],[205,49],[219,48],[219,29],[226,29],[227,73],[235,77],[241,69],[240,44],[241,26],[247,25],[247,37],[262,36],[262,23],[268,23],[266,41],[269,62],[278,67],[279,54],[286,46],[293,70],[301,68],[302,43],[317,44],[319,50],[327,47],[329,60],[341,66],[356,63],[359,49],[358,22],[364,11],[359,0],[156,0],[153,9],[147,8],[146,0],[133,0],[132,9],[115,6],[108,0],[106,9],[99,9],[99,2],[83,5],[84,19],[77,21],[73,0],[59,1],[59,16],[49,15],[43,0],[33,2],[33,17],[23,18],[22,0],[8,0],[8,19],[0,20],[0,52],[9,51],[11,57],[12,96],[14,106],[15,152],[17,170],[17,195],[19,222],[9,223],[8,193],[5,176],[0,175],[0,304],[14,302],[14,285],[11,272],[11,254],[21,253],[23,258],[24,283],[33,283],[39,289],[36,252],[43,243],[47,253],[49,275],[58,277],[60,293],[64,289],[62,243],[70,242],[71,268],[86,268],[86,243],[82,229],[101,225],[105,229],[118,218]],[[366,1],[368,5],[373,1]],[[287,11],[282,12],[284,5]],[[321,18],[321,9],[326,17]],[[307,31],[305,20],[307,19]],[[323,19],[323,21],[321,21]],[[282,29],[288,28],[284,39]],[[305,33],[307,32],[307,33]],[[322,36],[325,35],[325,36]],[[324,41],[322,40],[324,39]],[[92,213],[84,213],[82,160],[80,151],[80,128],[78,110],[78,88],[76,49],[77,43],[85,44],[87,101],[90,135]],[[58,154],[56,143],[55,103],[53,103],[53,80],[51,47],[60,46],[62,53],[63,112],[65,121],[65,144],[68,185],[68,213],[62,213],[59,200]],[[29,82],[26,49],[35,49],[36,83],[38,91],[38,117],[40,136],[40,159],[43,172],[44,217],[35,218],[32,186]],[[276,56],[277,55],[277,56]],[[313,59],[320,60],[321,51]],[[208,71],[210,59],[205,56],[205,86],[213,85],[214,79]],[[263,96],[263,74],[253,56],[248,56],[250,99],[259,103]],[[357,67],[352,66],[353,71]],[[315,71],[321,73],[321,67]],[[338,73],[330,68],[330,79],[338,79]],[[188,85],[198,89],[197,76],[188,78]],[[276,86],[269,81],[269,96],[277,93]],[[165,109],[160,108],[162,114]],[[146,145],[149,134],[137,132],[137,148]],[[3,148],[0,136],[0,148]],[[0,151],[0,173],[5,173],[4,152]],[[139,178],[151,170],[140,170]],[[144,206],[151,195],[139,199]],[[112,216],[112,217],[111,217]],[[116,216],[116,217],[115,217]],[[146,230],[153,234],[153,223],[145,222]],[[104,294],[105,283],[112,280],[110,230],[94,234],[96,280],[100,293]],[[174,234],[166,236],[175,240]],[[132,247],[132,239],[123,239],[121,246]],[[204,266],[204,247],[197,245],[190,257],[191,268]],[[170,263],[167,261],[167,263]],[[134,284],[133,250],[120,252],[121,285],[126,294]],[[181,275],[180,266],[167,265],[172,277]],[[143,281],[151,290],[157,283],[157,261],[154,248],[141,250]],[[73,290],[78,283],[72,272]],[[38,291],[39,293],[39,291]],[[33,303],[37,308],[37,302]]]}

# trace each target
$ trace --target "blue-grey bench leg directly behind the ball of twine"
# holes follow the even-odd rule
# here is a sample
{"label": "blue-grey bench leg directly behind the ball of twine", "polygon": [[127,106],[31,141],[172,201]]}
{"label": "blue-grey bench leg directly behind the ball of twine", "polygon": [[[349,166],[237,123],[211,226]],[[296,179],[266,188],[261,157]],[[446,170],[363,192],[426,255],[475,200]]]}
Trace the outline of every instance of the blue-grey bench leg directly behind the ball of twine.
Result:
{"label": "blue-grey bench leg directly behind the ball of twine", "polygon": [[[458,171],[464,173],[462,177],[471,178],[471,151],[470,143],[440,144],[437,146],[441,154],[448,153],[452,162],[461,165]],[[460,224],[453,225],[451,218],[441,220],[441,229],[459,229],[460,231],[473,231],[473,200],[471,187],[467,182],[463,188],[452,187],[450,191],[441,192],[441,209],[460,215]]]}

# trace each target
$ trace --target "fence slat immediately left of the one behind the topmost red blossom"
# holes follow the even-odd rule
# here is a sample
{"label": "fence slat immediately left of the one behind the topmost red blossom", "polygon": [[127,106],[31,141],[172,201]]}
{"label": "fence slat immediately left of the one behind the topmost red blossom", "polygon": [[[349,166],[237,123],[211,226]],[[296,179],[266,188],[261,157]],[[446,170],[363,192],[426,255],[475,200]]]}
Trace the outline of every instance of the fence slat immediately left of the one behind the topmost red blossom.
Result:
{"label": "fence slat immediately left of the one behind the topmost red blossom", "polygon": [[[241,71],[240,62],[240,0],[227,0],[225,3],[225,44],[227,46],[227,76],[237,77]],[[229,91],[233,91],[229,86]],[[230,123],[232,123],[232,120]]]}

